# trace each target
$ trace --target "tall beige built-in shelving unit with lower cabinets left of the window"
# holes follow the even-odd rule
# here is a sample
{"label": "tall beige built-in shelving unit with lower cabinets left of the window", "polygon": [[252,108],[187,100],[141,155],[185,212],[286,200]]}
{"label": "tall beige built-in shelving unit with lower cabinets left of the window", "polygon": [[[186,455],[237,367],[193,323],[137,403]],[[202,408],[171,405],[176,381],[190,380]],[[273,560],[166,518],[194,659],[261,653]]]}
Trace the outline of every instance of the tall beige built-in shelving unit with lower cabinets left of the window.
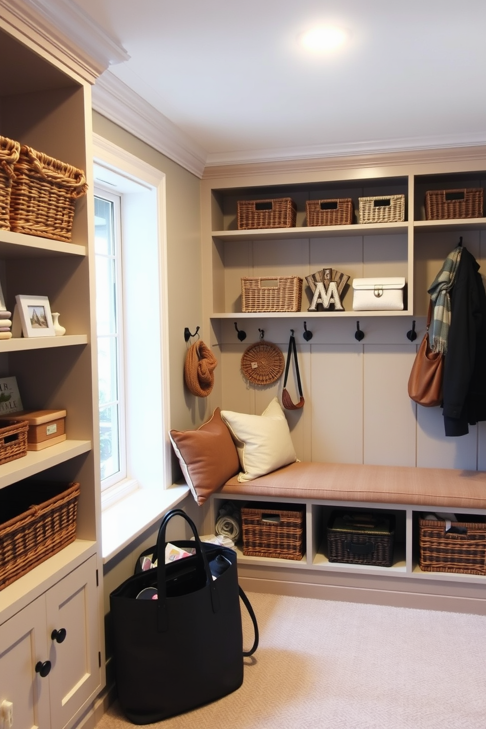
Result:
{"label": "tall beige built-in shelving unit with lower cabinets left of the window", "polygon": [[[93,190],[90,84],[71,58],[37,42],[0,20],[0,65],[9,69],[0,134],[84,170]],[[15,375],[23,408],[67,413],[66,440],[1,464],[0,489],[24,479],[80,487],[75,541],[0,591],[0,703],[12,701],[20,722],[52,729],[72,725],[105,681],[93,220],[88,194],[77,200],[70,243],[0,230],[7,309],[16,295],[47,296],[66,327],[63,337],[0,341],[0,378]],[[53,625],[66,628],[62,645]],[[48,658],[52,671],[39,678],[34,666]]]}

